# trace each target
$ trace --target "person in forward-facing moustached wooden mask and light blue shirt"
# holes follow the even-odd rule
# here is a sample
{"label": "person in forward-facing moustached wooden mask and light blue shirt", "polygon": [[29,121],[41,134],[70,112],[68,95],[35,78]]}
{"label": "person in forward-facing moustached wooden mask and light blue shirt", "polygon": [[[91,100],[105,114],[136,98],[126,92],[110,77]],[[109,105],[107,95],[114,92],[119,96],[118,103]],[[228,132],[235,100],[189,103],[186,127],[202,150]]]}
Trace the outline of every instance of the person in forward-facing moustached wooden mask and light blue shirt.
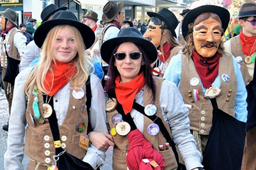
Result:
{"label": "person in forward-facing moustached wooden mask and light blue shirt", "polygon": [[187,43],[181,54],[172,57],[164,74],[164,79],[176,83],[182,94],[190,113],[191,133],[203,156],[212,127],[210,97],[228,115],[243,124],[247,120],[247,93],[242,74],[235,58],[224,51],[221,38],[229,16],[228,10],[213,5],[188,12],[182,23]]}

